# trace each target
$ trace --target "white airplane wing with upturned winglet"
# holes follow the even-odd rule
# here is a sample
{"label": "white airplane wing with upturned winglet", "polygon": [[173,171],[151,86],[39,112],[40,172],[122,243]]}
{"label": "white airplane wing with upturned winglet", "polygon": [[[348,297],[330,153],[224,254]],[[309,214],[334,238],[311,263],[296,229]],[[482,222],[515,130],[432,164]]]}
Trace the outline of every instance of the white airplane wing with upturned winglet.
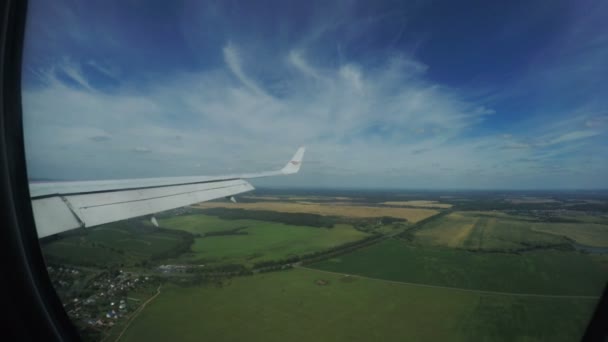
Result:
{"label": "white airplane wing with upturned winglet", "polygon": [[253,190],[245,179],[297,173],[300,147],[280,170],[226,176],[30,183],[38,238]]}

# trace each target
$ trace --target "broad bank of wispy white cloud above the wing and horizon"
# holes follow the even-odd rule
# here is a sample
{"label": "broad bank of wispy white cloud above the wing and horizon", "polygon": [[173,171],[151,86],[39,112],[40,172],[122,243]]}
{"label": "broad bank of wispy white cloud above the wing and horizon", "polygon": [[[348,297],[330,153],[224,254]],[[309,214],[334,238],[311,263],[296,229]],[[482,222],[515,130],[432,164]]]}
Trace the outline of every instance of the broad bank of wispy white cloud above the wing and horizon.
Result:
{"label": "broad bank of wispy white cloud above the wing and horizon", "polygon": [[[130,178],[256,171],[281,167],[305,144],[306,160],[315,163],[305,162],[296,177],[267,182],[497,186],[526,181],[538,173],[531,165],[544,165],[565,151],[538,153],[542,146],[515,134],[468,136],[492,109],[427,82],[426,69],[415,61],[393,59],[365,72],[345,64],[324,69],[318,82],[311,75],[321,73],[303,54],[288,53],[285,58],[300,75],[289,80],[282,96],[272,97],[247,74],[237,51],[230,44],[223,50],[230,73],[220,68],[174,74],[143,89],[123,87],[112,94],[72,88],[53,73],[42,73],[47,86],[24,91],[31,175]],[[537,141],[564,149],[591,136],[591,131],[569,130],[533,133],[542,137]]]}

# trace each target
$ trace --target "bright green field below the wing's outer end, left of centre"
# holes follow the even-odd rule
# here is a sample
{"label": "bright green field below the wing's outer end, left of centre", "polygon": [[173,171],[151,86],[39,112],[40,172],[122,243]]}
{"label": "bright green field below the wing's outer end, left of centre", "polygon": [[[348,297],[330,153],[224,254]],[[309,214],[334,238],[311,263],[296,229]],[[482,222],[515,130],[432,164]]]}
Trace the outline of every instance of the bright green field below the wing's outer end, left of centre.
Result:
{"label": "bright green field below the wing's outer end, left of centre", "polygon": [[[175,260],[189,263],[251,264],[320,251],[368,236],[347,224],[320,228],[257,220],[224,220],[200,214],[162,219],[159,224],[201,235],[195,239],[190,253]],[[237,228],[246,234],[204,236]]]}

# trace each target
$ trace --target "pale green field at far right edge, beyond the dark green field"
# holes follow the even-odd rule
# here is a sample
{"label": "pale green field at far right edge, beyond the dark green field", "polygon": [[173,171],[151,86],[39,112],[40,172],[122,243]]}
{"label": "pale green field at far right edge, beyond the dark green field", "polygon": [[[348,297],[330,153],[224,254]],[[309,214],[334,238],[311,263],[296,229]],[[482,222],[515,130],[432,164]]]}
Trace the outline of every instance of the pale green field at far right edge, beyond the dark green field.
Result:
{"label": "pale green field at far right edge, beyond the dark green field", "polygon": [[608,247],[608,225],[589,223],[539,223],[533,225],[532,230],[566,236],[582,245]]}

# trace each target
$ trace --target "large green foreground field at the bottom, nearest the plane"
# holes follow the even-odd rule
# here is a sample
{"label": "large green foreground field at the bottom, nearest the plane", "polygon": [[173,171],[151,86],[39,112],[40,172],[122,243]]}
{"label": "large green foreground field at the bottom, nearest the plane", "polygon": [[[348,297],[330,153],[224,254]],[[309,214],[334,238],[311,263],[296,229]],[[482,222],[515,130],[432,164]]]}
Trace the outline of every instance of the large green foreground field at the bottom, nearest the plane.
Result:
{"label": "large green foreground field at the bottom, nearest the plane", "polygon": [[166,286],[121,341],[573,341],[594,305],[295,269],[221,288]]}

